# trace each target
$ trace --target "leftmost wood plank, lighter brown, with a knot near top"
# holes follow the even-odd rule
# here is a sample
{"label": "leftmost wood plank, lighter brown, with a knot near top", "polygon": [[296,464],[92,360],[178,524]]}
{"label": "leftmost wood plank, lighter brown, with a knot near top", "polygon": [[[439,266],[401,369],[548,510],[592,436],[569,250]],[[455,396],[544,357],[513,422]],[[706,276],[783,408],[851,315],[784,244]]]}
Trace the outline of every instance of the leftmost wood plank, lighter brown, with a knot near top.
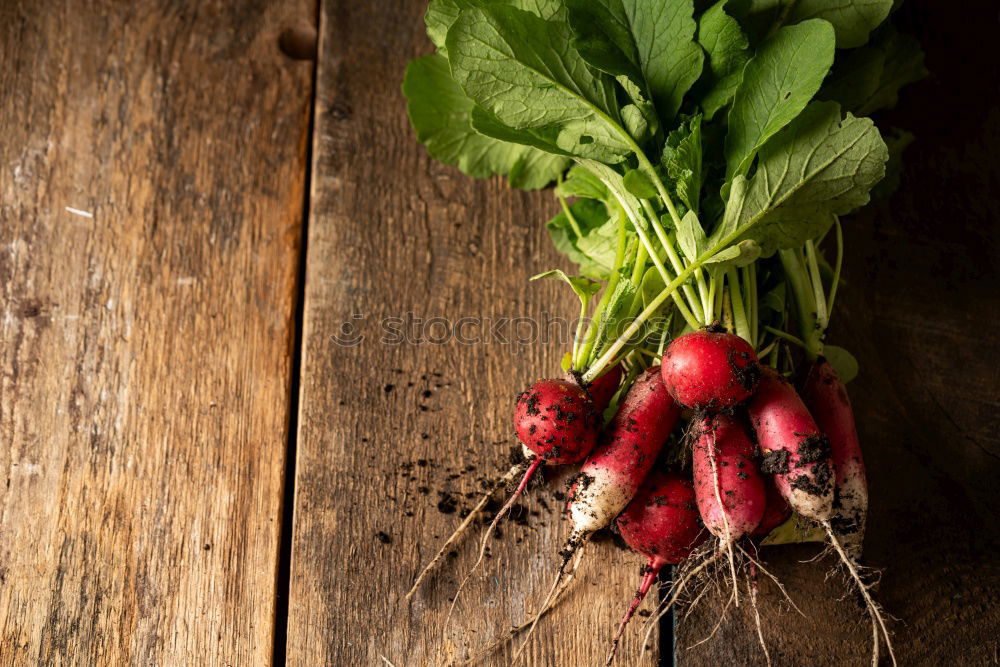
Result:
{"label": "leftmost wood plank, lighter brown, with a knot near top", "polygon": [[309,2],[0,4],[0,664],[271,658]]}

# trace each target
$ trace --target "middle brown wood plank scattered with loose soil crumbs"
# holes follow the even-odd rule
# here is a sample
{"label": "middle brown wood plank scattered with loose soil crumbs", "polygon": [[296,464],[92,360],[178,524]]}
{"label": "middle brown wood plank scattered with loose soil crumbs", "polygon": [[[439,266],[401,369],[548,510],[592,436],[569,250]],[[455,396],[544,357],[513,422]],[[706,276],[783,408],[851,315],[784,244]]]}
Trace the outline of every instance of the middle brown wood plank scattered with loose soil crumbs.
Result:
{"label": "middle brown wood plank scattered with loose soil crumbs", "polygon": [[[412,312],[454,326],[470,317],[463,334],[491,337],[483,318],[574,312],[572,295],[557,285],[527,282],[559,263],[543,225],[558,210],[551,195],[473,182],[432,162],[409,129],[399,84],[406,61],[430,49],[425,5],[323,3],[290,664],[379,664],[380,655],[395,665],[440,664],[481,647],[535,607],[566,537],[553,498],[560,482],[550,481],[525,503],[539,516],[510,524],[494,542],[445,636],[456,575],[472,564],[478,539],[461,546],[411,609],[402,605],[419,567],[459,521],[438,510],[438,492],[476,492],[477,475],[506,469],[513,397],[557,373],[567,347],[496,338],[433,344],[442,324],[423,330],[423,344],[385,344],[380,320]],[[365,336],[353,347],[335,340],[350,337],[348,325]],[[521,327],[509,324],[501,335],[527,337]],[[469,504],[463,497],[458,507]],[[600,662],[640,565],[595,545],[585,580],[540,626],[529,664]],[[630,641],[623,653],[632,652]],[[488,662],[510,657],[500,652]]]}

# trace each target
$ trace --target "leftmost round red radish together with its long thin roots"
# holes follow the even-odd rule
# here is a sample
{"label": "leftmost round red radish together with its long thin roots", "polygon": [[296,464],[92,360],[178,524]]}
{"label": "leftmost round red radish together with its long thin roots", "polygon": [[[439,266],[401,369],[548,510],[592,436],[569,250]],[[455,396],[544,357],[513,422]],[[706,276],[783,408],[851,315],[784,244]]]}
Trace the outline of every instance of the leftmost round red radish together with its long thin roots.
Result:
{"label": "leftmost round red radish together with its long thin roots", "polygon": [[[498,489],[521,476],[514,493],[490,522],[480,544],[479,558],[459,586],[458,593],[460,593],[482,563],[490,535],[500,520],[510,512],[510,508],[527,487],[535,471],[546,462],[564,464],[581,461],[593,449],[600,426],[600,412],[587,391],[575,380],[538,380],[530,389],[519,394],[514,407],[514,430],[521,440],[525,461],[515,464],[498,484],[483,495],[434,558],[424,566],[404,599],[410,600],[413,597],[423,580],[442,562],[448,549],[468,529],[475,516],[489,502],[490,497]],[[452,601],[452,609],[458,601],[458,593]],[[450,613],[449,611],[449,615]]]}

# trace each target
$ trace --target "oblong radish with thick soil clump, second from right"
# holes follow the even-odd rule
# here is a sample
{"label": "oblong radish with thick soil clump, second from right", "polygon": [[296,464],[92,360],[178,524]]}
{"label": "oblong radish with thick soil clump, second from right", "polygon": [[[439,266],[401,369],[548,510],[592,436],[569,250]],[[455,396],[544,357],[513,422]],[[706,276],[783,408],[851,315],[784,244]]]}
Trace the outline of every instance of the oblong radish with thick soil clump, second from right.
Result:
{"label": "oblong radish with thick soil clump, second from right", "polygon": [[774,475],[793,510],[827,521],[833,507],[830,442],[795,388],[777,371],[764,367],[747,411],[764,453],[763,471]]}

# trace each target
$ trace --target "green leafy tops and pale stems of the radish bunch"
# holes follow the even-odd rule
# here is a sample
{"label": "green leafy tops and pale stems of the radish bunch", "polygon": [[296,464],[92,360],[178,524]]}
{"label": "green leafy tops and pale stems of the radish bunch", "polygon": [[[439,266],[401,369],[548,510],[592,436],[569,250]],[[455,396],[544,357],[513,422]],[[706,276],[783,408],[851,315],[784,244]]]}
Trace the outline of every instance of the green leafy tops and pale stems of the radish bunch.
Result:
{"label": "green leafy tops and pale stems of the radish bunch", "polygon": [[720,318],[766,347],[784,317],[757,303],[758,280],[772,302],[784,284],[767,258],[869,200],[889,152],[863,116],[924,74],[882,25],[892,0],[695,4],[432,0],[437,53],[406,71],[432,157],[558,183],[547,226],[582,275],[546,275],[584,311],[605,283],[572,354],[585,379]]}

